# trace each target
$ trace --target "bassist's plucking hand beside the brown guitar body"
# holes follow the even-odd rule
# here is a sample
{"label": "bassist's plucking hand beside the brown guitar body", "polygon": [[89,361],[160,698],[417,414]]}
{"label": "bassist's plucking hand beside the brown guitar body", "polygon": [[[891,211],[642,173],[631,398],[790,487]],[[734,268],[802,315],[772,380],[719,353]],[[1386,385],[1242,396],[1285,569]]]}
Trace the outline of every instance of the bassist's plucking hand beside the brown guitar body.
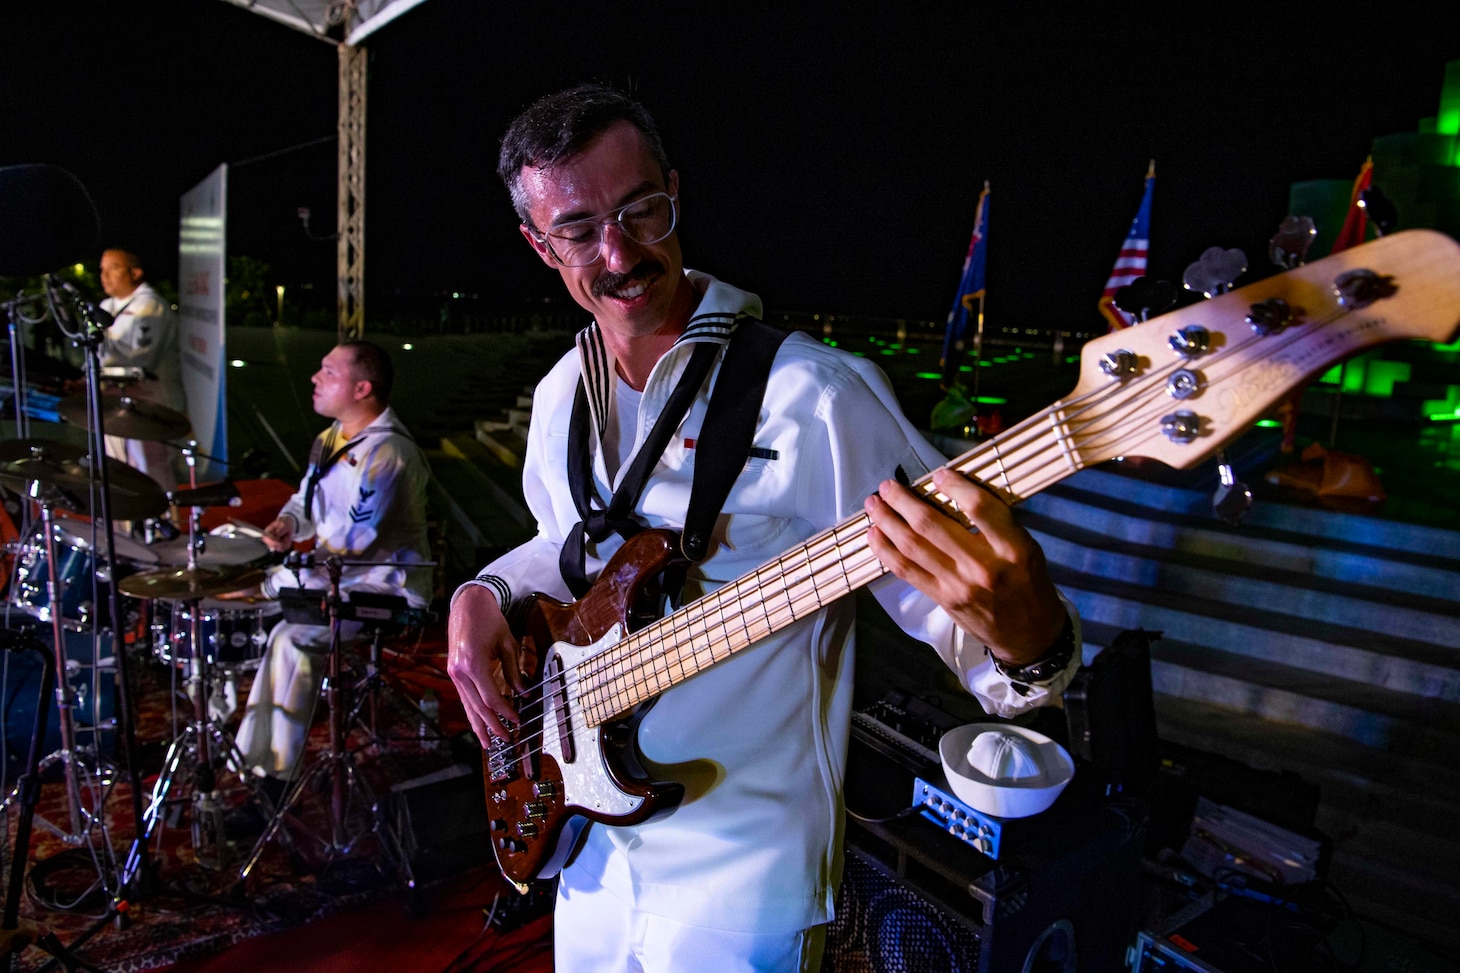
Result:
{"label": "bassist's plucking hand beside the brown guitar body", "polygon": [[502,723],[520,722],[508,692],[521,692],[523,675],[517,638],[502,608],[486,587],[469,586],[451,605],[447,622],[447,675],[456,684],[472,732],[483,747],[489,738],[511,739]]}

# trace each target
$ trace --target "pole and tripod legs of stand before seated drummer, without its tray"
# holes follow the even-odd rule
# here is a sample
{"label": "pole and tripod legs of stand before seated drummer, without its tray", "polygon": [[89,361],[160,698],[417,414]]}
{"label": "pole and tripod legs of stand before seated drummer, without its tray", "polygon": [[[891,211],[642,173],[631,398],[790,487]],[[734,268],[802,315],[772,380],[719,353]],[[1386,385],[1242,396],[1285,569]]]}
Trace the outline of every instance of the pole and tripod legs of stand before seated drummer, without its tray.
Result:
{"label": "pole and tripod legs of stand before seated drummer, without its tray", "polygon": [[[350,561],[349,564],[365,565],[374,562]],[[385,825],[384,814],[381,812],[380,801],[375,798],[375,792],[371,790],[369,785],[355,767],[355,754],[346,748],[346,713],[345,700],[340,692],[343,672],[340,663],[340,625],[343,622],[340,571],[346,567],[346,562],[337,555],[331,555],[324,560],[324,565],[330,576],[330,593],[327,599],[330,618],[330,649],[327,663],[328,668],[326,669],[324,676],[324,700],[330,714],[330,744],[324,751],[314,757],[312,764],[302,774],[296,773],[291,779],[289,787],[285,790],[285,795],[279,802],[279,809],[269,821],[264,833],[258,836],[258,842],[254,844],[248,861],[244,862],[244,866],[238,872],[239,887],[248,881],[248,875],[253,874],[254,868],[258,865],[264,846],[267,846],[269,842],[273,840],[273,836],[283,828],[285,818],[292,818],[295,824],[299,824],[301,830],[312,837],[323,849],[327,861],[345,858],[355,850],[356,843],[366,834],[375,834],[380,837],[385,855],[394,863],[400,865],[404,862],[404,853],[400,847],[400,842]],[[299,809],[301,802],[307,796],[311,783],[326,774],[328,774],[327,782],[330,786],[330,828],[328,834],[317,834],[304,827],[295,812]],[[358,821],[361,808],[368,812],[368,830],[361,830],[358,825],[355,828],[350,827],[352,812],[356,815]]]}

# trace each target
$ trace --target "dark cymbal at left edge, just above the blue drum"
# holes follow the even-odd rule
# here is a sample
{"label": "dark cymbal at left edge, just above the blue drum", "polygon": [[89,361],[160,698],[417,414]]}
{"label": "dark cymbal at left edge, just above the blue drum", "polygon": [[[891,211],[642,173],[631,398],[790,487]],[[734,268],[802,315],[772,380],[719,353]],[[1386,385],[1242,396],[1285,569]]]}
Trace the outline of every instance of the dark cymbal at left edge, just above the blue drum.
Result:
{"label": "dark cymbal at left edge, just above the blue drum", "polygon": [[[53,440],[9,440],[0,443],[0,484],[29,494],[39,484],[38,498],[53,505],[91,516],[92,457],[76,446]],[[161,484],[121,460],[107,457],[114,520],[156,517],[168,508]]]}

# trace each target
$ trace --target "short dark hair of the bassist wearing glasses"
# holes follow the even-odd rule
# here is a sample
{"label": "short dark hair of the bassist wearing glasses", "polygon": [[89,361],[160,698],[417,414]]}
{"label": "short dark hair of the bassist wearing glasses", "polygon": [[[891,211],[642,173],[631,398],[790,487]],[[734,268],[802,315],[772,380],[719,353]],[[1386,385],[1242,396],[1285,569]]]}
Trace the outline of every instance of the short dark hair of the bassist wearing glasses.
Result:
{"label": "short dark hair of the bassist wearing glasses", "polygon": [[639,130],[667,183],[669,156],[664,155],[658,126],[644,105],[620,91],[604,85],[578,85],[539,98],[512,120],[502,136],[496,174],[512,194],[512,207],[523,222],[531,225],[523,193],[523,167],[546,168],[571,159],[619,121]]}

